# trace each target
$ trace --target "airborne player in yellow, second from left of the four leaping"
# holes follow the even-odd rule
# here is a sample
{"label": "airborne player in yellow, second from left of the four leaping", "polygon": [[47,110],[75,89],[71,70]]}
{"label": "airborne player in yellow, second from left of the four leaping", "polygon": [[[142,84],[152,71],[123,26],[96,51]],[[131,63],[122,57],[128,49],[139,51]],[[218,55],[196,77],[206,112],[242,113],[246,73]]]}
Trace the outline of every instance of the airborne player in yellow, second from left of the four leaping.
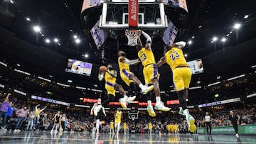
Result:
{"label": "airborne player in yellow, second from left of the four leaping", "polygon": [[[127,102],[130,103],[133,101],[136,96],[132,96],[132,93],[136,90],[137,84],[142,89],[142,94],[147,94],[149,91],[154,89],[154,86],[146,87],[142,84],[142,82],[134,75],[134,73],[129,71],[129,65],[134,65],[138,63],[139,60],[128,60],[125,57],[124,51],[118,52],[118,65],[120,70],[120,76],[122,80],[129,86],[129,90],[127,92],[127,96],[131,99],[127,99]],[[120,99],[121,101],[126,101],[125,98]]]}

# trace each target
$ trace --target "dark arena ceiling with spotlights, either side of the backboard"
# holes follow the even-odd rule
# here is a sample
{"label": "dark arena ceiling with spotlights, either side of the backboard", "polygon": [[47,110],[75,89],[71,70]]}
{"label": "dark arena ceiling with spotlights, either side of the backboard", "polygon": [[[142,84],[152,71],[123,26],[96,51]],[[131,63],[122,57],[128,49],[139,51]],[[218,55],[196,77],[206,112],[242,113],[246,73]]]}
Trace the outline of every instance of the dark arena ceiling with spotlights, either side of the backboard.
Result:
{"label": "dark arena ceiling with spotlights, either side of the backboard", "polygon": [[[232,77],[256,64],[254,1],[188,0],[187,4],[188,23],[185,35],[178,40],[191,40],[191,45],[184,49],[187,59],[201,58],[205,67],[205,73],[193,77],[194,83],[198,79],[214,82],[218,75],[223,79]],[[1,53],[14,55],[18,61],[45,68],[60,79],[65,77],[64,69],[68,58],[102,65],[95,45],[89,44],[93,42],[82,31],[81,6],[82,0],[1,0]],[[233,28],[235,23],[241,24],[240,29]],[[33,26],[41,26],[42,33],[35,33]],[[80,43],[75,43],[74,35],[80,38]],[[211,43],[213,37],[218,40]],[[47,38],[50,43],[46,43]],[[54,38],[58,38],[57,43]],[[225,43],[221,41],[223,38],[226,38]],[[110,52],[110,55],[116,53]],[[163,52],[155,55],[159,58]],[[107,58],[113,63],[116,62],[114,57]],[[142,76],[139,71],[141,66],[132,69]],[[97,68],[92,71],[92,77],[85,79],[96,79]],[[167,66],[161,67],[159,71],[162,75],[171,75]],[[69,77],[80,79],[77,75]],[[168,77],[169,80],[162,79],[164,84],[171,81],[171,76]]]}

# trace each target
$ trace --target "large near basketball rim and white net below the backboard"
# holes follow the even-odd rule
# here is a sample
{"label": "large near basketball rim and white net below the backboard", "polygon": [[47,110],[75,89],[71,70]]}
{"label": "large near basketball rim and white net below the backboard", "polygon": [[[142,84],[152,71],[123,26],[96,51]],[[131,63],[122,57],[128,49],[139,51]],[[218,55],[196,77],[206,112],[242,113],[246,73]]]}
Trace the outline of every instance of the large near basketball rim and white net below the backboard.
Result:
{"label": "large near basketball rim and white net below the backboard", "polygon": [[141,35],[141,31],[139,30],[125,30],[125,35],[127,35],[128,43],[127,45],[135,46],[137,45],[137,40]]}

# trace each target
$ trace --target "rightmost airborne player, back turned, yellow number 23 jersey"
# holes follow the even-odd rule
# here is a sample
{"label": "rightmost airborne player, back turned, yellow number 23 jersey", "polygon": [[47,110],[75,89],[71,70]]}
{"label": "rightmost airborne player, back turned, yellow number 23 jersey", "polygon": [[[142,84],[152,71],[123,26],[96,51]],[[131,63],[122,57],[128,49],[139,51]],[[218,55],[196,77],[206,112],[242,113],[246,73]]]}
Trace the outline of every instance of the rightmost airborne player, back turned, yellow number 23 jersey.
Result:
{"label": "rightmost airborne player, back turned, yellow number 23 jersey", "polygon": [[195,118],[191,116],[188,112],[186,104],[186,95],[188,94],[188,87],[191,81],[191,70],[188,68],[188,63],[182,52],[182,48],[186,45],[185,42],[181,41],[174,43],[174,47],[171,45],[166,45],[164,47],[165,55],[161,57],[160,61],[157,62],[157,67],[167,63],[173,72],[174,87],[178,94],[178,100],[181,104],[182,110],[180,113],[186,116],[186,121],[188,123],[188,131],[196,131]]}

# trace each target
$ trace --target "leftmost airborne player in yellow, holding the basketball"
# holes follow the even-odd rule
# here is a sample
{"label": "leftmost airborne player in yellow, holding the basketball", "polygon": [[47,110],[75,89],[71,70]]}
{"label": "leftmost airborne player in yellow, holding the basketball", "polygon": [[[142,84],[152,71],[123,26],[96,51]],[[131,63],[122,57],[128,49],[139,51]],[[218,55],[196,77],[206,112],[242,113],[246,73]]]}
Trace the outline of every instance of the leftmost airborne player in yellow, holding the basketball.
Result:
{"label": "leftmost airborne player in yellow, holding the basketball", "polygon": [[[114,100],[115,91],[118,90],[122,96],[124,96],[124,99],[120,99],[119,102],[122,106],[122,108],[127,108],[127,99],[128,96],[125,94],[124,89],[122,88],[122,85],[117,84],[117,71],[113,69],[112,65],[107,65],[107,72],[99,72],[98,78],[100,81],[102,81],[103,77],[105,78],[105,89],[107,90],[107,96],[108,98],[102,103],[102,106],[105,106],[110,103],[110,101]],[[135,96],[136,97],[136,96]],[[129,99],[135,99],[135,98],[129,98]],[[125,101],[124,101],[125,100]],[[97,111],[101,109],[101,106],[95,107],[97,114]],[[96,115],[95,115],[96,116]]]}

